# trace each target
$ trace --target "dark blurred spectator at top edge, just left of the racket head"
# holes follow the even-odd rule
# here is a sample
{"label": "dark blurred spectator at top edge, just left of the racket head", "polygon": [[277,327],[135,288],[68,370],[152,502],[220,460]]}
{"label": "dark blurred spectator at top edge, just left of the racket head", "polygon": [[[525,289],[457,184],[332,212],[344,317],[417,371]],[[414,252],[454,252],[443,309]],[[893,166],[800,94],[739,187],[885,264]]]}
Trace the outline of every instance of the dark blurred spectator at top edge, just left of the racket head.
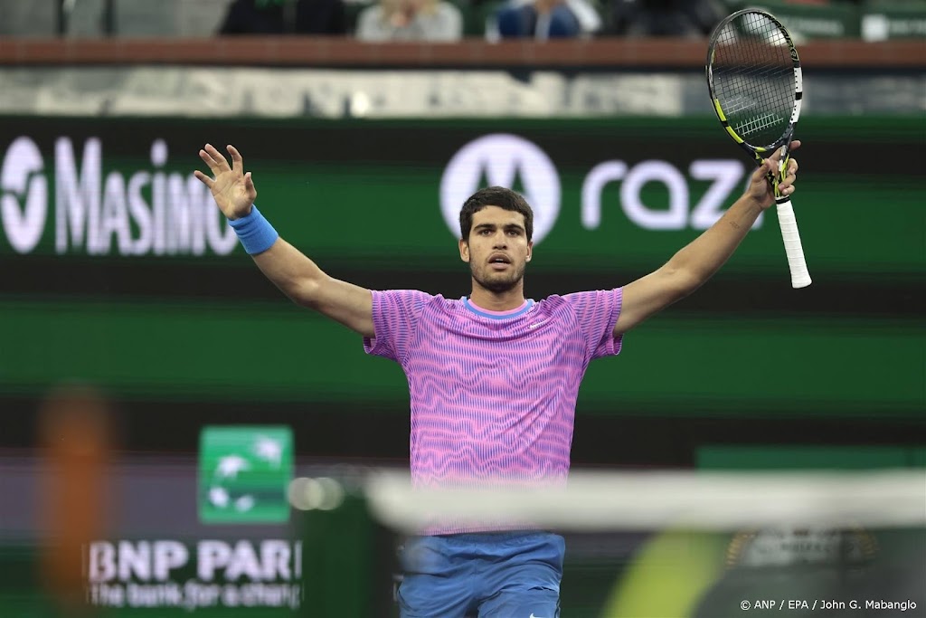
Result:
{"label": "dark blurred spectator at top edge, just left of the racket head", "polygon": [[717,0],[613,0],[611,34],[705,36],[727,11]]}

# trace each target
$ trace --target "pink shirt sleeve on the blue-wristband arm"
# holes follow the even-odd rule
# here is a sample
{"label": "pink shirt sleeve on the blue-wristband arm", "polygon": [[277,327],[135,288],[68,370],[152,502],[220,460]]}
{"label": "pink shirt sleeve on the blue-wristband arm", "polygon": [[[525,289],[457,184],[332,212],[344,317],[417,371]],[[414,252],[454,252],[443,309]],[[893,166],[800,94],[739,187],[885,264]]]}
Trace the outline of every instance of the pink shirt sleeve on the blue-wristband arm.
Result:
{"label": "pink shirt sleeve on the blue-wristband arm", "polygon": [[363,348],[401,363],[418,327],[425,304],[433,298],[417,290],[373,290],[373,332],[363,338]]}

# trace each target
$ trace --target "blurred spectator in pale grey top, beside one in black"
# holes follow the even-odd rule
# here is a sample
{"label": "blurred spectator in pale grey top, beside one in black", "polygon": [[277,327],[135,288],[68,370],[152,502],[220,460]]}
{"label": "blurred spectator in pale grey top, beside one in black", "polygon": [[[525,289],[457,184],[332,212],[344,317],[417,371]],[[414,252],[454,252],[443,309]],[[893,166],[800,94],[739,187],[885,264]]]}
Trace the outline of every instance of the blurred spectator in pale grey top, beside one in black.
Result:
{"label": "blurred spectator in pale grey top, beside one in black", "polygon": [[444,0],[380,0],[357,19],[361,41],[458,41],[463,15]]}

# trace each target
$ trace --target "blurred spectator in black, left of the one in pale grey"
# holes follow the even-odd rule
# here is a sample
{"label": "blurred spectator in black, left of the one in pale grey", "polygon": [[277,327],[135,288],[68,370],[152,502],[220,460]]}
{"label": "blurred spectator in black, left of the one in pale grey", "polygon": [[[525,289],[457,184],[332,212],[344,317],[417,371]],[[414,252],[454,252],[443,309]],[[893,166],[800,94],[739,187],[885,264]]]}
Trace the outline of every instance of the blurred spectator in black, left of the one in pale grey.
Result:
{"label": "blurred spectator in black, left of the one in pale grey", "polygon": [[219,34],[344,34],[343,0],[234,0]]}

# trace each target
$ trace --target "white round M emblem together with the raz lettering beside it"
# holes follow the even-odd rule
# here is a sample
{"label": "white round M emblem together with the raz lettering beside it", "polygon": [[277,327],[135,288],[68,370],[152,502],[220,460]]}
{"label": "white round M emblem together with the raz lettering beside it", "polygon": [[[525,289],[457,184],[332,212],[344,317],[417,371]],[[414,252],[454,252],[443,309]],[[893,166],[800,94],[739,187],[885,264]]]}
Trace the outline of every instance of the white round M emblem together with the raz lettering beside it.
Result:
{"label": "white round M emblem together with the raz lettering beside it", "polygon": [[[724,206],[748,183],[751,169],[740,159],[695,159],[685,170],[669,161],[651,159],[629,164],[602,161],[582,181],[581,223],[586,230],[601,225],[602,211],[620,209],[644,230],[707,230],[723,215]],[[707,188],[697,201],[692,186]],[[534,212],[534,242],[553,229],[560,206],[559,174],[543,150],[516,135],[491,134],[464,145],[450,159],[441,179],[441,209],[450,232],[459,234],[459,209],[478,189],[499,184],[523,190]],[[619,191],[605,188],[618,184]],[[644,200],[644,187],[661,185],[669,203],[653,205]],[[606,197],[619,195],[619,203]],[[613,197],[611,197],[613,199]],[[762,224],[760,216],[754,228]]]}

